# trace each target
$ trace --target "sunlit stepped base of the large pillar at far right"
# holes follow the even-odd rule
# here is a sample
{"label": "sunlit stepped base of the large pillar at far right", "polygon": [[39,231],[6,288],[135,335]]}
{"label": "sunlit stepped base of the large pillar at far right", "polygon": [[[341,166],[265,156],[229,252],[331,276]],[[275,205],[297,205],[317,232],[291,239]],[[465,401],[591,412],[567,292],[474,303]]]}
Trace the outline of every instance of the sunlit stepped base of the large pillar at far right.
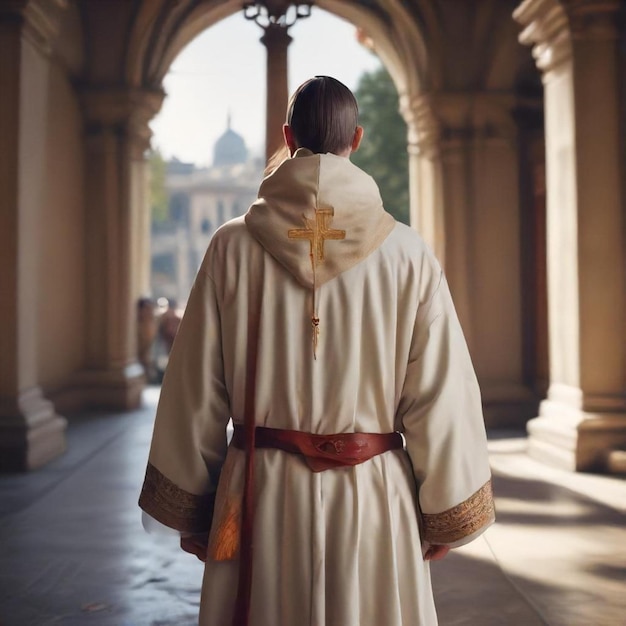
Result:
{"label": "sunlit stepped base of the large pillar at far right", "polygon": [[613,473],[616,451],[626,450],[626,413],[588,413],[546,400],[527,430],[530,456],[570,471]]}

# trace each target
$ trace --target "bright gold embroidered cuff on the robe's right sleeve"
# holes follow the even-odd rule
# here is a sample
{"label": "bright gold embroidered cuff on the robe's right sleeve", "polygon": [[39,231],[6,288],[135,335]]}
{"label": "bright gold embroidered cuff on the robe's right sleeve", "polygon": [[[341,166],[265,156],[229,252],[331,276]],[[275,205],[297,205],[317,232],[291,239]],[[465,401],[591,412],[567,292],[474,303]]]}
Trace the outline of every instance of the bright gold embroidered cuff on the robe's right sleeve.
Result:
{"label": "bright gold embroidered cuff on the robe's right sleeve", "polygon": [[422,518],[428,543],[454,543],[473,535],[495,519],[491,480],[461,504],[442,513],[423,513]]}

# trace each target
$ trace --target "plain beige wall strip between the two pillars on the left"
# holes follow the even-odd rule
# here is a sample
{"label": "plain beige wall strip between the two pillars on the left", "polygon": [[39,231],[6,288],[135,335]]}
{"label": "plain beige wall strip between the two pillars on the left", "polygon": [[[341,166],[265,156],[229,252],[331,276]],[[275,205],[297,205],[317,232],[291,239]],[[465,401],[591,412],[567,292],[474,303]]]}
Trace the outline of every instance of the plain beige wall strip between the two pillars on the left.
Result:
{"label": "plain beige wall strip between the two pillars on the left", "polygon": [[82,118],[63,69],[52,63],[42,202],[39,210],[38,380],[45,390],[71,384],[85,354],[85,232]]}

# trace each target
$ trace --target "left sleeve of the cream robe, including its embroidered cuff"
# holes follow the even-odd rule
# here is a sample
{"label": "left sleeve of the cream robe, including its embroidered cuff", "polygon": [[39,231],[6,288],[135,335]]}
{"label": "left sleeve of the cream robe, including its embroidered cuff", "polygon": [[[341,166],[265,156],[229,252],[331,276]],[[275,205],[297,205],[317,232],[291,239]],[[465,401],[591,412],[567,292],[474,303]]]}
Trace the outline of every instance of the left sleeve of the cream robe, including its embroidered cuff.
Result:
{"label": "left sleeve of the cream robe, including its embroidered cuff", "polygon": [[148,515],[183,533],[208,532],[229,414],[215,285],[201,269],[161,388],[139,498]]}

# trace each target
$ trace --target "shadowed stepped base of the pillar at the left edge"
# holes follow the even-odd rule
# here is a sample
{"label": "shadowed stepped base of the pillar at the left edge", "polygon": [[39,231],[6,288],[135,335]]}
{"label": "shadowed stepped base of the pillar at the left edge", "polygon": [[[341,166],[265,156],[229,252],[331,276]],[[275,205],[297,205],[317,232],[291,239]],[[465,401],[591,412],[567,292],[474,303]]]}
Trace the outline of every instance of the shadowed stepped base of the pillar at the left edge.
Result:
{"label": "shadowed stepped base of the pillar at the left edge", "polygon": [[0,471],[32,470],[65,452],[67,421],[39,387],[0,400]]}

